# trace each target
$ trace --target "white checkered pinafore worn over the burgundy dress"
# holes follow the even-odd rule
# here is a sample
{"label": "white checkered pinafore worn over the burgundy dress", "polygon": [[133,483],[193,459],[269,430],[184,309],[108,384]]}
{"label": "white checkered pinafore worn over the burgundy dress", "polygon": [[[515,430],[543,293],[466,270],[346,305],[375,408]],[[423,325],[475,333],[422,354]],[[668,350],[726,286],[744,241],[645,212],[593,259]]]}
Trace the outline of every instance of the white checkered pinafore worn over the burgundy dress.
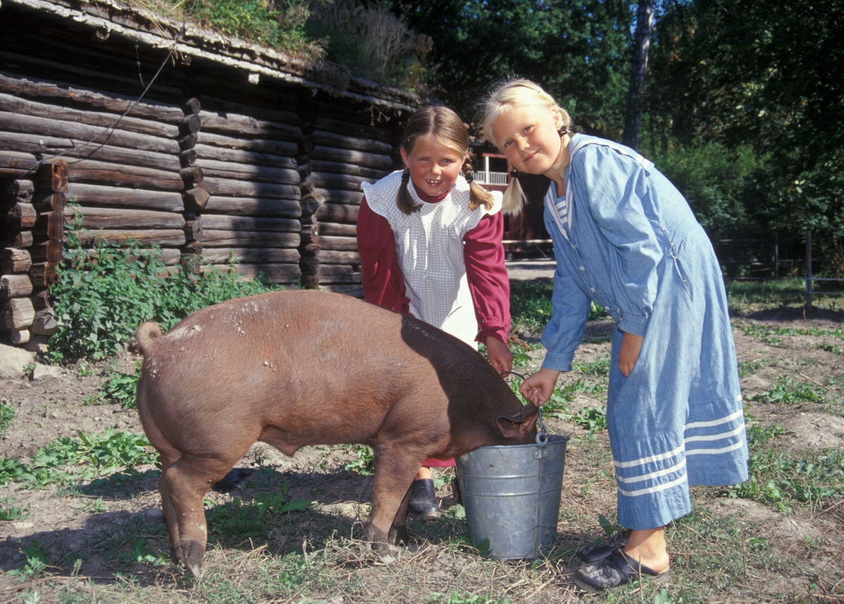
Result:
{"label": "white checkered pinafore worn over the burgundy dress", "polygon": [[460,176],[451,192],[436,204],[427,204],[413,185],[408,186],[419,211],[404,214],[396,197],[402,186],[402,171],[394,171],[375,184],[361,185],[366,203],[387,219],[396,238],[398,264],[402,271],[410,313],[477,347],[478,335],[472,295],[463,262],[463,237],[484,215],[501,209],[501,193],[493,193],[492,209],[481,205],[469,209],[469,185]]}

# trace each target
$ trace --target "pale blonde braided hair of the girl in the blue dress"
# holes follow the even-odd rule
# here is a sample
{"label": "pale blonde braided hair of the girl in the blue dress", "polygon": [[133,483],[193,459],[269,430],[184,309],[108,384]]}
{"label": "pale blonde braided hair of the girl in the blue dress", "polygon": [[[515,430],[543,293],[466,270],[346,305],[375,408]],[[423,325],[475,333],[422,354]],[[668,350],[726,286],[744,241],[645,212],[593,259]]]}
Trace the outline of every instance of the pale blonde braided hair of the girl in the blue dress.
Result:
{"label": "pale blonde braided hair of the girl in the blue dress", "polygon": [[[495,140],[492,134],[492,124],[502,113],[510,111],[513,106],[517,105],[538,106],[549,111],[556,111],[562,121],[560,133],[569,133],[571,131],[571,117],[565,109],[557,104],[553,96],[542,90],[539,84],[529,79],[512,79],[498,84],[495,90],[484,99],[481,108],[483,112],[481,122],[484,124],[484,138],[489,140],[490,143],[495,144],[502,151],[501,145]],[[506,214],[516,215],[522,211],[524,202],[525,194],[522,191],[522,186],[519,184],[517,174],[511,173],[510,184],[507,185],[507,189],[504,192],[501,209]]]}

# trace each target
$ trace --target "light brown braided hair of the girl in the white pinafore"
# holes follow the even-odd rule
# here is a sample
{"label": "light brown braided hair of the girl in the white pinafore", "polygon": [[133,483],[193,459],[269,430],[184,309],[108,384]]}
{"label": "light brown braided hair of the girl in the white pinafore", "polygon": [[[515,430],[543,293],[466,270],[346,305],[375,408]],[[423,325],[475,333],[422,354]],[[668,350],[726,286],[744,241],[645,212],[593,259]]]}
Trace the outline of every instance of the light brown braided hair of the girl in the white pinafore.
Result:
{"label": "light brown braided hair of the girl in the white pinafore", "polygon": [[[422,107],[414,112],[408,125],[404,127],[402,149],[410,155],[419,139],[433,137],[441,144],[464,158],[461,172],[469,183],[469,209],[492,209],[492,193],[473,182],[472,161],[469,160],[469,131],[463,120],[451,109],[441,106]],[[396,204],[405,214],[412,214],[421,208],[410,195],[410,171],[405,168],[402,174],[402,186],[398,188]]]}

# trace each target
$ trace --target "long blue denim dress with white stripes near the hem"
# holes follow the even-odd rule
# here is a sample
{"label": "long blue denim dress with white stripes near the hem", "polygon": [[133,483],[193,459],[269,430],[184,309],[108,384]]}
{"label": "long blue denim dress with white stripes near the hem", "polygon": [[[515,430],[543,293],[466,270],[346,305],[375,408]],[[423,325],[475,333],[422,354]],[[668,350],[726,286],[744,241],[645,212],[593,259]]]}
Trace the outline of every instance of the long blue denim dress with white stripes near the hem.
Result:
{"label": "long blue denim dress with white stripes near the hem", "polygon": [[[545,226],[557,269],[543,367],[571,371],[590,301],[613,318],[607,423],[619,524],[641,531],[691,511],[689,485],[747,480],[747,435],[721,269],[679,191],[636,151],[576,134],[565,196]],[[624,332],[642,335],[630,376]]]}

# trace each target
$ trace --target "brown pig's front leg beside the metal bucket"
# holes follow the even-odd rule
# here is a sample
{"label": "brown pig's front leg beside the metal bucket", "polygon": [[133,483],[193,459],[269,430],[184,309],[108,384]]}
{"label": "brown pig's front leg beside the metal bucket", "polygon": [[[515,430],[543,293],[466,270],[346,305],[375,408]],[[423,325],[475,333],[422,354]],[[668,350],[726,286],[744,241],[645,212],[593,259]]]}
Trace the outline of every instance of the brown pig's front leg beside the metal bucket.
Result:
{"label": "brown pig's front leg beside the metal bucket", "polygon": [[[372,549],[388,554],[388,541],[398,536],[407,538],[404,520],[409,502],[408,490],[419,471],[419,465],[427,457],[425,451],[408,448],[407,445],[384,443],[375,447],[375,477],[372,482],[372,514],[364,532],[365,540]],[[405,501],[407,500],[407,501]],[[403,508],[404,514],[399,514]],[[394,522],[401,522],[391,531]],[[403,532],[403,535],[398,533]]]}

